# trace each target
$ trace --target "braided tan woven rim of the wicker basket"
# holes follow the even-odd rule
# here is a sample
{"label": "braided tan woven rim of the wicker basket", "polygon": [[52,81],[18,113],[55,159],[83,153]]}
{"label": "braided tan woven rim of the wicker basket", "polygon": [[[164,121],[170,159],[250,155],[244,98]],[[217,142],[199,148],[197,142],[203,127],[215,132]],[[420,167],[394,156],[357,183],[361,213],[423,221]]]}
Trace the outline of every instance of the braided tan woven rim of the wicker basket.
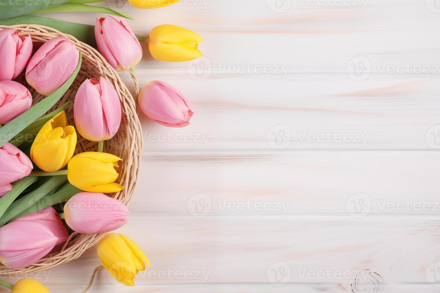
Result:
{"label": "braided tan woven rim of the wicker basket", "polygon": [[[128,156],[121,157],[121,159],[123,159],[122,170],[120,170],[120,178],[118,178],[118,183],[124,186],[125,189],[120,192],[108,195],[115,199],[119,199],[125,205],[128,205],[128,203],[132,199],[132,195],[136,186],[136,181],[139,176],[139,166],[143,151],[143,136],[139,117],[137,116],[136,101],[134,100],[132,94],[129,92],[128,88],[122,82],[116,70],[105,60],[105,58],[98,51],[95,50],[95,48],[77,40],[74,36],[61,33],[51,27],[34,24],[0,25],[0,29],[4,28],[17,29],[20,35],[29,34],[32,37],[33,42],[37,43],[43,43],[57,36],[66,37],[66,39],[74,43],[77,49],[82,52],[83,63],[81,64],[81,69],[83,69],[84,61],[92,63],[92,66],[96,66],[98,72],[100,72],[102,76],[104,76],[114,85],[121,100],[122,116],[123,121],[126,122],[126,125],[124,124],[125,131],[122,131],[121,128],[123,127],[123,125],[121,121],[121,128],[118,130],[118,134],[114,138],[112,138],[112,140],[119,140],[115,142],[117,149],[124,150],[125,152],[127,152]],[[80,73],[78,73],[78,76],[80,75],[81,70]],[[83,76],[80,77],[82,78]],[[136,77],[132,75],[132,78],[135,82],[135,86],[137,87]],[[75,79],[75,82],[77,82],[77,79]],[[70,89],[72,88],[72,86],[70,87]],[[74,94],[70,89],[66,92],[64,97],[68,94],[70,94],[70,96]],[[61,98],[60,101],[62,101],[64,97]],[[56,108],[56,106],[54,108]],[[120,136],[122,136],[122,139],[116,138]],[[89,142],[88,145],[97,145],[97,143]],[[111,145],[111,143],[108,143],[107,145],[106,142],[104,142],[104,151],[106,151],[106,149],[113,149]],[[36,263],[29,265],[26,268],[10,269],[0,263],[0,275],[22,274],[29,271],[40,271],[48,268],[54,268],[60,264],[67,263],[80,257],[81,254],[85,252],[85,250],[97,243],[99,239],[104,236],[104,234],[105,233],[87,235],[73,232],[72,234],[70,234],[69,238],[64,244],[56,246],[45,257],[38,260]]]}

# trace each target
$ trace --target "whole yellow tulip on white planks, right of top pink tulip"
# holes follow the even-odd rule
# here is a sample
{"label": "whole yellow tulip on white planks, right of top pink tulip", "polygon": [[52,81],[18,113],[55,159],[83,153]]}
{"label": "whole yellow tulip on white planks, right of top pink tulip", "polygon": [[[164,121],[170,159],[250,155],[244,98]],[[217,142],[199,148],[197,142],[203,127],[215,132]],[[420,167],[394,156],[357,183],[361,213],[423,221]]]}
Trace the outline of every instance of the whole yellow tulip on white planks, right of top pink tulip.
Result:
{"label": "whole yellow tulip on white planks, right of top pink tulip", "polygon": [[158,25],[150,32],[148,49],[161,61],[189,61],[203,54],[197,50],[203,38],[189,29],[176,25]]}

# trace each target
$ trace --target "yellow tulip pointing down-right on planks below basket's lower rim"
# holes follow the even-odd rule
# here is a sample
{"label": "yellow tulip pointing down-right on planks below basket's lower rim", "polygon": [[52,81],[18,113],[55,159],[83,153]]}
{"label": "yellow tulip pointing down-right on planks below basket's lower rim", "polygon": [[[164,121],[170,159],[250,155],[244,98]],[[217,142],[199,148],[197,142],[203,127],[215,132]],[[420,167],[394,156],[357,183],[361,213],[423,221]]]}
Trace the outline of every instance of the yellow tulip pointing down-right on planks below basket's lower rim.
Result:
{"label": "yellow tulip pointing down-right on planks below basket's lower rim", "polygon": [[99,240],[97,251],[104,268],[126,286],[135,286],[133,279],[139,271],[145,271],[144,262],[151,268],[145,253],[123,234],[108,233]]}

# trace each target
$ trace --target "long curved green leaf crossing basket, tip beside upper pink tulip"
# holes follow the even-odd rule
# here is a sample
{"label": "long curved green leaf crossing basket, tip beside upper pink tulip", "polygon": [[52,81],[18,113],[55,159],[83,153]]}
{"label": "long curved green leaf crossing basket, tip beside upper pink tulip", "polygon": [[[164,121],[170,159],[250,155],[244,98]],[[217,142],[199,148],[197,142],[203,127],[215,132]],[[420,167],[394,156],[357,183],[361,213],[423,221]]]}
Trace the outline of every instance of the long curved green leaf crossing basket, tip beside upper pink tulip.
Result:
{"label": "long curved green leaf crossing basket, tip beside upper pink tulip", "polygon": [[81,68],[82,54],[79,52],[78,65],[72,75],[66,80],[66,82],[55,90],[52,94],[48,95],[46,98],[33,105],[29,110],[12,119],[0,128],[0,147],[3,146],[7,141],[10,141],[15,137],[20,131],[25,129],[29,124],[33,123],[36,119],[41,117],[44,113],[48,112],[59,99],[66,93],[73,80],[78,75]]}

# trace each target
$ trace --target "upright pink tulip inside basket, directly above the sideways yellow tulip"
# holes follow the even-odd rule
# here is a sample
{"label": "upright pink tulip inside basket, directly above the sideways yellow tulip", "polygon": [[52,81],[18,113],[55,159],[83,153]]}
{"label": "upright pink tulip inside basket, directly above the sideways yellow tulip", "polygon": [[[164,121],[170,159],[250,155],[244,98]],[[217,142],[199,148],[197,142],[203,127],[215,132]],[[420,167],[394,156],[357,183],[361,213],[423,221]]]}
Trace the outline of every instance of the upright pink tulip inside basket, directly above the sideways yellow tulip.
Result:
{"label": "upright pink tulip inside basket, directly above the sideways yellow tulip", "polygon": [[112,138],[121,124],[121,101],[113,85],[103,78],[85,80],[77,91],[73,117],[78,132],[89,141]]}

